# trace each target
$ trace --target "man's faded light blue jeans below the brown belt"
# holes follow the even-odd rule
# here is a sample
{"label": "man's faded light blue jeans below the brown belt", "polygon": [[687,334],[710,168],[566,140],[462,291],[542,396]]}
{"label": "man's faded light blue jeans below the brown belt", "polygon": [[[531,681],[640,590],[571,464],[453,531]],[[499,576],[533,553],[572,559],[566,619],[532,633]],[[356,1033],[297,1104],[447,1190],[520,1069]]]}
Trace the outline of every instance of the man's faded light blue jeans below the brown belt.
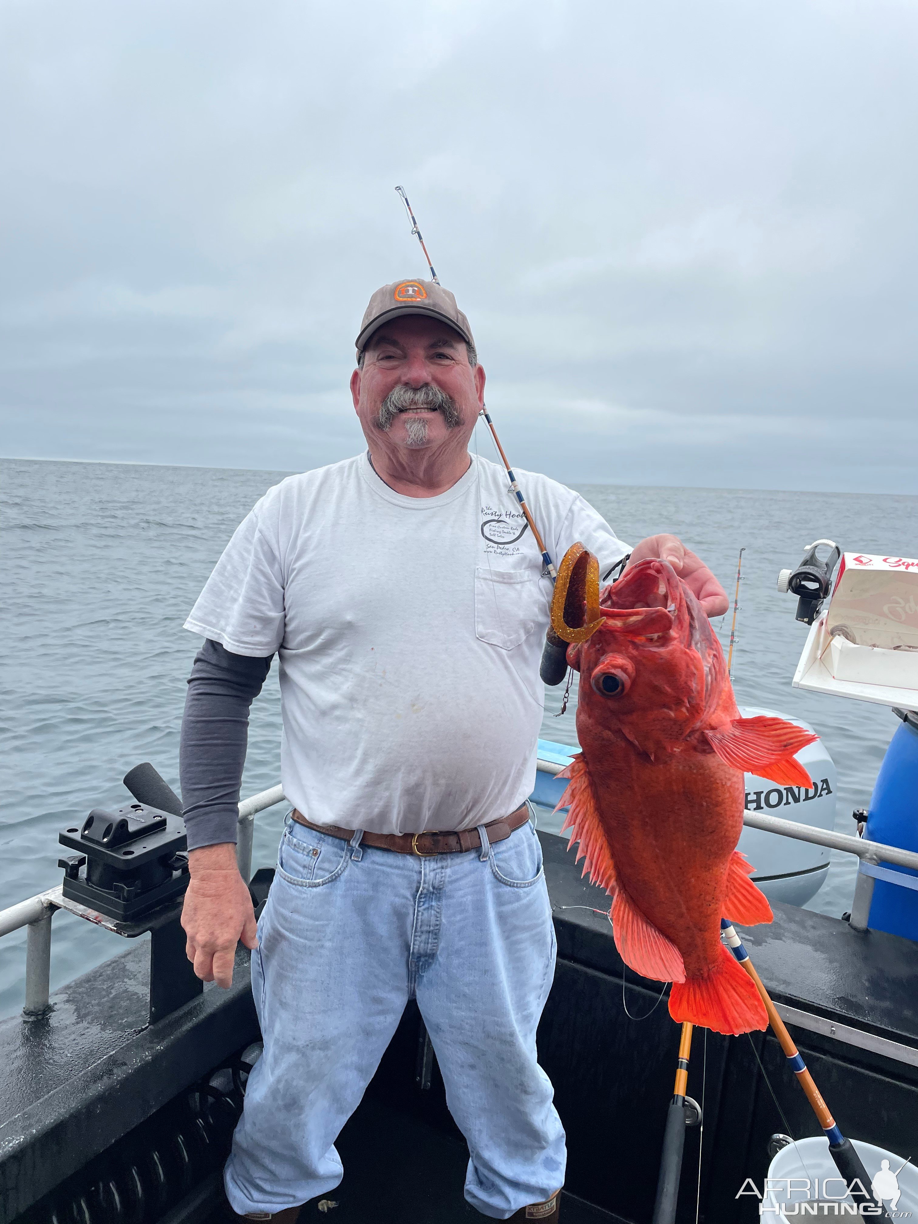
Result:
{"label": "man's faded light blue jeans below the brown belt", "polygon": [[556,944],[531,824],[480,851],[416,858],[288,821],[258,942],[264,1054],[224,1175],[236,1212],[278,1212],[340,1182],[334,1141],[411,998],[469,1144],[466,1200],[507,1219],[563,1185],[564,1131],[536,1060]]}

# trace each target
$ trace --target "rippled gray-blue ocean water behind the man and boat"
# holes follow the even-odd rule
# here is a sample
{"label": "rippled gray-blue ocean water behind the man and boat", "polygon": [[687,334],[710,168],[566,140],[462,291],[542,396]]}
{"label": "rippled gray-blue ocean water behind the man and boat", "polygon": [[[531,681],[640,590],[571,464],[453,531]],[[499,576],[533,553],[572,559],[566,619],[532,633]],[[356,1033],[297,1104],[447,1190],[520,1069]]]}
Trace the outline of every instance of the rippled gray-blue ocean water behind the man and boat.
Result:
{"label": "rippled gray-blue ocean water behind the man and boat", "polygon": [[[482,447],[483,449],[483,447]],[[177,791],[185,681],[198,639],[181,625],[223,546],[285,472],[0,460],[4,647],[0,706],[0,908],[59,883],[59,829],[127,798],[124,774],[149,760]],[[869,802],[897,722],[883,706],[803,693],[791,677],[805,628],[775,589],[820,536],[864,552],[916,556],[918,498],[857,493],[584,486],[619,536],[674,531],[711,564],[731,600],[743,556],[734,688],[741,704],[809,721],[838,767],[837,827]],[[720,625],[730,636],[730,616]],[[574,709],[542,736],[574,744]],[[575,698],[575,692],[574,692]],[[277,667],[252,709],[244,794],[279,781]],[[284,808],[256,818],[253,864],[272,863]],[[854,860],[834,857],[810,907],[849,907]],[[60,912],[53,988],[120,952],[118,936]],[[0,1016],[22,1006],[24,930],[0,940]]]}

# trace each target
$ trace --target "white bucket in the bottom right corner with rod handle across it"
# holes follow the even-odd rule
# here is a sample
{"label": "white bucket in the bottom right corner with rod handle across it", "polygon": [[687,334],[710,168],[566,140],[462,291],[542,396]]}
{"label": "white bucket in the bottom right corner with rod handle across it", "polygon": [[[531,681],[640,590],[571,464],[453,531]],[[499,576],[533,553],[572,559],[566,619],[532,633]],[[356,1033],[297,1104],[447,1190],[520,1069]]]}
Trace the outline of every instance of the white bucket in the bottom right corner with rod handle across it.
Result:
{"label": "white bucket in the bottom right corner with rod handle across it", "polygon": [[[864,1169],[870,1179],[874,1179],[883,1169],[883,1162],[887,1160],[886,1181],[889,1174],[896,1175],[894,1181],[884,1187],[878,1182],[878,1190],[883,1193],[883,1206],[892,1219],[918,1220],[918,1169],[912,1164],[906,1164],[903,1155],[895,1152],[886,1152],[884,1148],[874,1147],[873,1143],[862,1143],[859,1140],[852,1141],[858,1155],[864,1163]],[[788,1191],[788,1179],[791,1189]],[[826,1185],[827,1179],[827,1185]],[[815,1186],[819,1180],[819,1186]],[[778,1185],[783,1182],[783,1185]],[[864,1217],[851,1214],[853,1207],[848,1195],[843,1195],[843,1182],[835,1166],[835,1160],[829,1152],[829,1140],[824,1137],[798,1140],[781,1148],[769,1166],[769,1180],[766,1182],[765,1201],[761,1204],[761,1218],[771,1219],[775,1224],[797,1224],[798,1220],[810,1219],[862,1219]],[[892,1197],[886,1195],[886,1189],[897,1187],[900,1191],[895,1211],[892,1209]],[[865,1186],[870,1192],[870,1186]],[[827,1193],[826,1193],[827,1191]],[[894,1189],[895,1195],[895,1189]],[[820,1206],[813,1206],[819,1203]],[[837,1203],[837,1207],[823,1207],[823,1203]],[[847,1211],[843,1212],[843,1207]],[[867,1219],[876,1219],[868,1215]]]}

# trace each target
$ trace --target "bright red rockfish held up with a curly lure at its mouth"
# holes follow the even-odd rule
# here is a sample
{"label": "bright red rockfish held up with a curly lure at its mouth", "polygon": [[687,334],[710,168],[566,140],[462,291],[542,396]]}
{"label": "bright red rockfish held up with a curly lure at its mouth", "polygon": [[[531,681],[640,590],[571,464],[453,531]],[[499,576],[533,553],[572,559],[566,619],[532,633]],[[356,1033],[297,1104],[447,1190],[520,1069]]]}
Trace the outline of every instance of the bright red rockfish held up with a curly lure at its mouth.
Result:
{"label": "bright red rockfish held up with a curly lure at its mouth", "polygon": [[766,1028],[752,979],[721,944],[721,917],[771,922],[736,849],[743,772],[812,786],[794,753],[816,737],[782,718],[741,718],[720,643],[692,591],[641,561],[599,594],[596,558],[562,563],[552,627],[580,672],[583,752],[564,830],[584,874],[613,897],[616,946],[645,978],[672,982],[670,1015],[718,1033]]}

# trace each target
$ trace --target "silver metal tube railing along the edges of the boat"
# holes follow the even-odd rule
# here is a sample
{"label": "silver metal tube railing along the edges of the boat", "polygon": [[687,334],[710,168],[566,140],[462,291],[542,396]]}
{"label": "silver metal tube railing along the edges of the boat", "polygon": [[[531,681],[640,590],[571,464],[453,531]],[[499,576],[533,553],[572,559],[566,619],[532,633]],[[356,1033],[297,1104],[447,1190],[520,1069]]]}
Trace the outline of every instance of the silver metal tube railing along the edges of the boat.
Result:
{"label": "silver metal tube railing along the edges of the boat", "polygon": [[[536,766],[542,774],[559,774],[563,765],[540,760]],[[262,791],[239,805],[239,829],[236,840],[236,860],[244,879],[252,874],[252,836],[255,818],[259,812],[284,802],[284,791],[273,786]],[[897,846],[884,846],[881,842],[867,841],[848,834],[836,834],[827,829],[813,829],[794,820],[782,820],[761,812],[743,813],[743,824],[749,829],[761,829],[764,832],[777,834],[780,837],[793,837],[797,841],[810,842],[814,846],[827,846],[845,854],[856,854],[860,863],[854,886],[854,900],[851,906],[851,925],[854,930],[867,930],[867,918],[870,912],[874,883],[878,879],[890,880],[905,887],[918,890],[918,878],[890,871],[881,867],[906,867],[918,871],[918,853],[900,849]],[[51,968],[51,918],[59,905],[60,886],[39,892],[27,901],[0,909],[0,936],[26,928],[26,1006],[23,1017],[34,1020],[48,1012],[50,968]]]}

